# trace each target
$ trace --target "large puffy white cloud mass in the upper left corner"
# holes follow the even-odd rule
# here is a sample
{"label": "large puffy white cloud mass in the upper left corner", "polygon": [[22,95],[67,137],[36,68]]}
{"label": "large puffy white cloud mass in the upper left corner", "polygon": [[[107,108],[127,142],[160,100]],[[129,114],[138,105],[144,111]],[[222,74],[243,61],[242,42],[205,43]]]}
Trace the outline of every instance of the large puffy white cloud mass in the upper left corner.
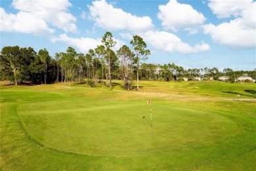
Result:
{"label": "large puffy white cloud mass in the upper left corner", "polygon": [[70,6],[68,0],[47,3],[44,0],[14,0],[12,7],[18,10],[16,14],[7,14],[1,8],[1,31],[43,35],[53,33],[51,26],[54,26],[74,33],[77,30],[76,18],[68,12]]}

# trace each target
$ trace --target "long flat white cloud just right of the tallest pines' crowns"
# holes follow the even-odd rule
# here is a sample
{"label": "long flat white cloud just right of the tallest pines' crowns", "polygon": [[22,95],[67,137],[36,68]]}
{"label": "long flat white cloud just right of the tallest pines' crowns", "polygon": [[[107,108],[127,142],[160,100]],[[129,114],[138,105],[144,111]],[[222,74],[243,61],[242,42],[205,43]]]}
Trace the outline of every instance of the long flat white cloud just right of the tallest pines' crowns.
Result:
{"label": "long flat white cloud just right of the tallest pines' crowns", "polygon": [[166,52],[181,52],[184,54],[191,54],[197,52],[203,52],[210,49],[208,44],[202,42],[202,44],[196,44],[191,47],[189,44],[182,42],[179,37],[172,33],[165,31],[148,31],[143,35],[143,39],[160,50]]}

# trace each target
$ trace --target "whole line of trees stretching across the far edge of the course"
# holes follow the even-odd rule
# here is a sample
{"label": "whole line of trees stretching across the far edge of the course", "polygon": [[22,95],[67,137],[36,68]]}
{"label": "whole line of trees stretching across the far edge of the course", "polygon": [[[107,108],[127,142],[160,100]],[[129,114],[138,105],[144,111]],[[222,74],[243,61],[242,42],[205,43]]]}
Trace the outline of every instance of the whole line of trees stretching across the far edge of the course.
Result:
{"label": "whole line of trees stretching across the far edge of the course", "polygon": [[219,76],[228,76],[228,81],[234,82],[238,76],[244,74],[256,78],[256,69],[234,71],[226,68],[220,71],[216,67],[205,67],[185,70],[174,63],[143,63],[148,59],[150,50],[138,35],[133,36],[131,48],[123,45],[114,52],[114,46],[116,42],[110,32],[106,32],[102,37],[102,45],[90,49],[87,54],[77,53],[74,48],[68,47],[66,52],[55,53],[54,57],[51,57],[47,49],[35,52],[31,47],[5,46],[0,55],[0,80],[9,80],[16,85],[22,82],[86,82],[91,86],[106,84],[110,89],[113,79],[123,80],[125,89],[132,89],[133,80],[137,80],[139,89],[139,80],[218,80]]}

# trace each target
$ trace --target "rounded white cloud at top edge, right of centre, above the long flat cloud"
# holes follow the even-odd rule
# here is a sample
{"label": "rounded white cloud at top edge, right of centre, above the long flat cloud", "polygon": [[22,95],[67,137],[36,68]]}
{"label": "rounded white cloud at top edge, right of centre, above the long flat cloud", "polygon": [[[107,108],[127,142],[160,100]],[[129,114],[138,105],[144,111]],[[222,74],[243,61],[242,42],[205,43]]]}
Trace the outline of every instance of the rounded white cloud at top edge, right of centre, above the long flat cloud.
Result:
{"label": "rounded white cloud at top edge, right of centre, above the long flat cloud", "polygon": [[190,5],[178,3],[177,0],[170,0],[167,5],[159,6],[158,19],[165,29],[178,31],[187,28],[188,31],[194,29],[205,22],[205,17],[201,12],[194,10]]}

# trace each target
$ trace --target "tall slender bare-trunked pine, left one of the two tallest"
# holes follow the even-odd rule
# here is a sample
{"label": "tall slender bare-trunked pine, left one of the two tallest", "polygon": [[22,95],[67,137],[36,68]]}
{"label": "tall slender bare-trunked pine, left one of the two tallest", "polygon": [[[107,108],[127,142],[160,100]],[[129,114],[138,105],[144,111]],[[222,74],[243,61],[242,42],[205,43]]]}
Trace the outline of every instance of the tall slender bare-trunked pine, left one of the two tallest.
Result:
{"label": "tall slender bare-trunked pine, left one of the two tallest", "polygon": [[106,54],[108,56],[108,76],[109,76],[109,85],[110,89],[112,89],[112,84],[111,84],[111,51],[112,48],[116,45],[116,42],[113,40],[112,33],[106,32],[105,35],[102,37],[101,42],[105,45],[106,47]]}

